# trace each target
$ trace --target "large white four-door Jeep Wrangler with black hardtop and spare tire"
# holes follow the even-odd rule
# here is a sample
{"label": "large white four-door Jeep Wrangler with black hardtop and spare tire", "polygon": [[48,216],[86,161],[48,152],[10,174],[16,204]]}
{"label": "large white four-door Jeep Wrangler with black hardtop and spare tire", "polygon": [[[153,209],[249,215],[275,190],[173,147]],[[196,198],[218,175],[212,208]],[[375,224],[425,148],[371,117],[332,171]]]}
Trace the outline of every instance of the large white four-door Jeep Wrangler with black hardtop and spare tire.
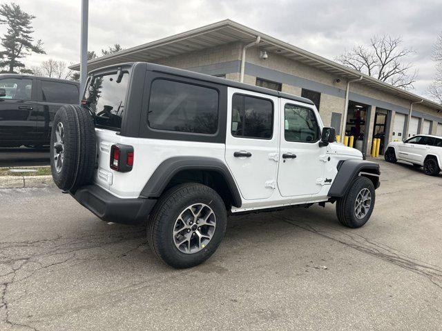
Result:
{"label": "large white four-door Jeep Wrangler with black hardtop and spare tire", "polygon": [[336,201],[361,227],[379,186],[379,165],[336,143],[310,100],[151,63],[91,72],[51,139],[58,187],[105,221],[147,220],[175,268],[209,258],[230,213]]}

